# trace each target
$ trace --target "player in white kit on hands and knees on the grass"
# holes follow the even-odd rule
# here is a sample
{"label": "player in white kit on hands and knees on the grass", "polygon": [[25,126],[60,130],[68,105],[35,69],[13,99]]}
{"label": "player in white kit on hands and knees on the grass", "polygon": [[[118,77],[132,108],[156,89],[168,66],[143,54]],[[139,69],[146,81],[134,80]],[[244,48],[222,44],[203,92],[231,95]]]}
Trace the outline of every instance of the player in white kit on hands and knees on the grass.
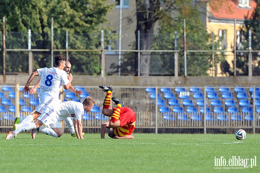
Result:
{"label": "player in white kit on hands and knees on the grass", "polygon": [[[15,131],[9,131],[5,139],[13,139],[15,135],[22,131],[31,130],[31,136],[35,139],[36,134],[40,131],[44,134],[59,138],[62,136],[61,121],[67,117],[73,117],[75,133],[78,139],[84,139],[82,135],[82,115],[84,111],[89,112],[96,101],[88,96],[83,103],[77,101],[63,101],[56,105],[47,106],[42,114],[33,123],[27,123]],[[42,127],[42,125],[50,125]]]}

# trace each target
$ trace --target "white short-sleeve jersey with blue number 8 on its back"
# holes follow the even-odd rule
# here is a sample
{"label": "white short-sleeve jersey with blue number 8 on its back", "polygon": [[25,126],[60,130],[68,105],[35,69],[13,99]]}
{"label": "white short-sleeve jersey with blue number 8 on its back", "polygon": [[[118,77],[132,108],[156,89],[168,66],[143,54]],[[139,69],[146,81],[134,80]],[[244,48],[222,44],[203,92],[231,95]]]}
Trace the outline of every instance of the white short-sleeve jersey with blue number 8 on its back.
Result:
{"label": "white short-sleeve jersey with blue number 8 on its back", "polygon": [[40,95],[49,93],[52,97],[58,98],[62,84],[66,85],[70,82],[67,73],[57,67],[45,67],[37,69],[37,71],[39,76],[42,76],[40,80]]}

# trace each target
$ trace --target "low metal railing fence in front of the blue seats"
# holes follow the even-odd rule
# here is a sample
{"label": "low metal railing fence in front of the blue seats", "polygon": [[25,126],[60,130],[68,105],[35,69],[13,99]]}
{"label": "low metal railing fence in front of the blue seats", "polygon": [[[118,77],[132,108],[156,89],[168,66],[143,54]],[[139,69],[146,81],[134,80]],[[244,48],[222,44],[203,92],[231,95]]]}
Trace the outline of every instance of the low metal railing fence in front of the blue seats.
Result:
{"label": "low metal railing fence in front of the blue seats", "polygon": [[[16,116],[25,116],[35,110],[38,92],[24,95],[24,86],[1,86],[0,128],[12,128]],[[84,114],[86,129],[100,129],[109,121],[102,115],[105,93],[98,86],[75,86],[96,100],[96,107]],[[117,97],[136,114],[136,129],[260,129],[260,86],[113,86],[112,97]],[[86,95],[61,91],[61,100],[82,102]],[[205,97],[204,97],[205,96]],[[27,106],[27,107],[25,107]],[[29,107],[28,107],[29,106]],[[111,103],[113,106],[113,102]],[[204,113],[206,112],[206,113]],[[63,123],[64,130],[67,129]],[[92,131],[93,132],[93,131]]]}

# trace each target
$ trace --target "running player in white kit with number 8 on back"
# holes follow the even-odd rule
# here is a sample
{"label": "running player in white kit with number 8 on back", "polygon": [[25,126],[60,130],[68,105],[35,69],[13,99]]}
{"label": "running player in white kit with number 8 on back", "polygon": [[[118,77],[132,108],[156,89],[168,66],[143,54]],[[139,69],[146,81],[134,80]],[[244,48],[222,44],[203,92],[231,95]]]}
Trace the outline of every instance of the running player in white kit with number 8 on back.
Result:
{"label": "running player in white kit with number 8 on back", "polygon": [[55,57],[55,65],[56,67],[40,68],[32,72],[23,89],[23,93],[28,94],[28,91],[30,92],[29,85],[33,78],[35,76],[41,76],[40,104],[36,107],[36,111],[34,113],[29,114],[23,117],[22,119],[16,118],[14,129],[17,129],[25,125],[26,123],[31,123],[34,119],[37,119],[40,116],[40,114],[42,114],[44,108],[46,108],[49,104],[59,103],[59,93],[61,86],[63,86],[65,90],[72,87],[72,74],[67,76],[67,73],[63,70],[65,67],[65,57],[63,55],[57,55]]}

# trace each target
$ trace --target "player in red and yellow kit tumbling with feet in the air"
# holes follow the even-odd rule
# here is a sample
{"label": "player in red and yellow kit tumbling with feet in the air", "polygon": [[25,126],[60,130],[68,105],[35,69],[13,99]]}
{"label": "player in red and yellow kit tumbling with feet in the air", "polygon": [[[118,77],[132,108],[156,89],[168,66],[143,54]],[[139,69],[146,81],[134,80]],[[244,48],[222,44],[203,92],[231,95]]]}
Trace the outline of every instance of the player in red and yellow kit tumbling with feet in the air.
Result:
{"label": "player in red and yellow kit tumbling with feet in the air", "polygon": [[[100,85],[99,88],[106,92],[102,113],[105,116],[111,117],[109,122],[101,125],[101,138],[105,138],[106,128],[113,128],[113,130],[108,132],[109,137],[133,139],[132,133],[135,129],[136,119],[135,112],[131,108],[123,107],[124,104],[117,98],[111,98],[112,87]],[[115,102],[116,108],[109,108],[110,100]]]}

